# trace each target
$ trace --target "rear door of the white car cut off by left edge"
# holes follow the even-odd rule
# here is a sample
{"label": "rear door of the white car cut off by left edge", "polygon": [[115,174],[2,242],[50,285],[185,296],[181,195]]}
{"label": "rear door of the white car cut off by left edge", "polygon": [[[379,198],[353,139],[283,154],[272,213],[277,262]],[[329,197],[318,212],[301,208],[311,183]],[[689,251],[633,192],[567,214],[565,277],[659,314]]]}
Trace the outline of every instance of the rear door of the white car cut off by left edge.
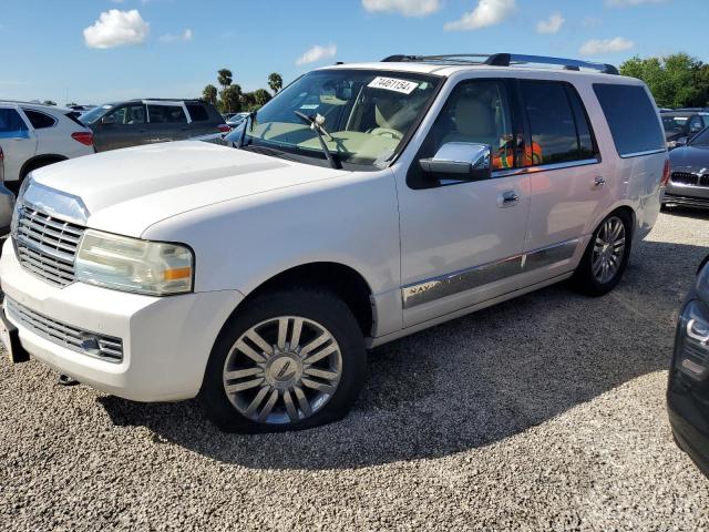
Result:
{"label": "rear door of the white car cut off by left edge", "polygon": [[9,105],[0,105],[0,147],[4,180],[18,181],[24,163],[37,153],[37,136],[20,112]]}

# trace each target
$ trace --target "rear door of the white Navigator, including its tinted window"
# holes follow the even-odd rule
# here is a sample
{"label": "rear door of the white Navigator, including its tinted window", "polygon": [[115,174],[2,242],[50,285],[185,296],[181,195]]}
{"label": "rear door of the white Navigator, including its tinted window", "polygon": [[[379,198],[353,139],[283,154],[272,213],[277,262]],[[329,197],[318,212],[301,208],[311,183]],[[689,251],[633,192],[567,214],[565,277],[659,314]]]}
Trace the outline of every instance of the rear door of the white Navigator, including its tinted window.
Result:
{"label": "rear door of the white Navigator, including its tinted window", "polygon": [[[616,186],[604,172],[582,100],[571,83],[520,80],[526,122],[530,226],[524,250],[532,284],[573,269],[590,224]],[[534,267],[532,267],[534,266]]]}

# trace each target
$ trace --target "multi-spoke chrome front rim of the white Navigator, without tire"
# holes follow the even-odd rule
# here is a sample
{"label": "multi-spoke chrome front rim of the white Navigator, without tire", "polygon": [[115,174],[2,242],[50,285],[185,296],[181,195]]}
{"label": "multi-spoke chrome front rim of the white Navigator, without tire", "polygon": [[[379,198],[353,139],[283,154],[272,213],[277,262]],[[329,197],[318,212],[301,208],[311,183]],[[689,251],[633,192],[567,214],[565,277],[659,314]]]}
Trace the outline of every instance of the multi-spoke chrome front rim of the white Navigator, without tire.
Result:
{"label": "multi-spoke chrome front rim of the white Navigator, without tire", "polygon": [[342,355],[330,331],[307,318],[280,316],[236,340],[223,380],[229,401],[244,417],[281,424],[322,409],[341,375]]}

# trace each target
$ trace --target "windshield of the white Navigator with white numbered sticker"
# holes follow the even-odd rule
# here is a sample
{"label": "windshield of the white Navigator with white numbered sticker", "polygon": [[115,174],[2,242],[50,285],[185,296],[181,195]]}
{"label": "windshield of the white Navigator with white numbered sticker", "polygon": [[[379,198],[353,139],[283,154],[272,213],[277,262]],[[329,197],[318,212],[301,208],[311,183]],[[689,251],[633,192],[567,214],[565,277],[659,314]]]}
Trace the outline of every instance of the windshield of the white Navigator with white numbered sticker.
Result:
{"label": "windshield of the white Navigator with white numbered sticker", "polygon": [[310,72],[258,111],[244,145],[325,158],[317,133],[296,114],[300,112],[323,119],[328,133],[323,141],[340,163],[384,167],[428,109],[440,82],[440,78],[409,72]]}

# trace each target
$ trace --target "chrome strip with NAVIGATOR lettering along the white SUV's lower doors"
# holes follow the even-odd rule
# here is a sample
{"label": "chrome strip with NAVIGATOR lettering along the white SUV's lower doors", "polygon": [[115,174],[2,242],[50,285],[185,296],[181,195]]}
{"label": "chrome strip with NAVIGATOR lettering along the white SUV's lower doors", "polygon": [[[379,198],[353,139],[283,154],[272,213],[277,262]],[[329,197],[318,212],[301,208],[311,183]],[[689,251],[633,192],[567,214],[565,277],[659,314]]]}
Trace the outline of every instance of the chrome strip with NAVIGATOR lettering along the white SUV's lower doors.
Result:
{"label": "chrome strip with NAVIGATOR lettering along the white SUV's lower doors", "polygon": [[435,299],[479,288],[514,275],[538,269],[574,256],[580,238],[513,255],[472,268],[432,277],[401,288],[403,308],[409,309]]}

